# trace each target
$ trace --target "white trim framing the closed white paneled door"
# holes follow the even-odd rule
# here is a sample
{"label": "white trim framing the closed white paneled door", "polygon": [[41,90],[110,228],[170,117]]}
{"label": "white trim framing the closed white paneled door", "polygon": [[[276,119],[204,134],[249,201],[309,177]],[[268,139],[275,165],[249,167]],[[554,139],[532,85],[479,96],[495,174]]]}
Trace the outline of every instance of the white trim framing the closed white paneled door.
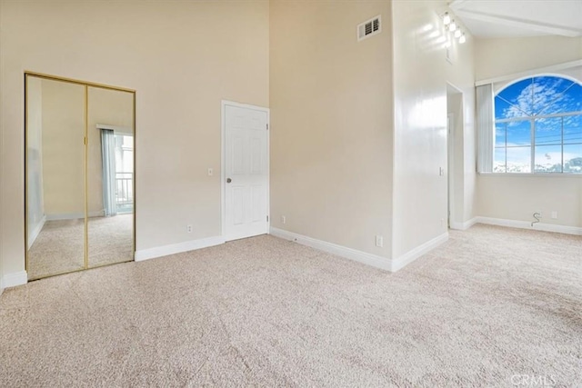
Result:
{"label": "white trim framing the closed white paneled door", "polygon": [[271,226],[271,110],[264,106],[222,100],[220,102],[220,230],[223,239],[226,239],[226,105],[254,109],[266,113],[266,124],[269,128],[266,130],[266,215],[269,217],[266,223],[267,231]]}

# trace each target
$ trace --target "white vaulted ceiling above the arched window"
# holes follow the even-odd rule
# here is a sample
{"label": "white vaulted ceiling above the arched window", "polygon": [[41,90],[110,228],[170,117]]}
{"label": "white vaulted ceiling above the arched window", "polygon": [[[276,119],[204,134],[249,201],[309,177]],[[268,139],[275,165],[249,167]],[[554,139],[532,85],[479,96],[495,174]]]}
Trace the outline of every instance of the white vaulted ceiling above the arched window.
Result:
{"label": "white vaulted ceiling above the arched window", "polygon": [[454,0],[449,6],[477,37],[582,36],[582,0]]}

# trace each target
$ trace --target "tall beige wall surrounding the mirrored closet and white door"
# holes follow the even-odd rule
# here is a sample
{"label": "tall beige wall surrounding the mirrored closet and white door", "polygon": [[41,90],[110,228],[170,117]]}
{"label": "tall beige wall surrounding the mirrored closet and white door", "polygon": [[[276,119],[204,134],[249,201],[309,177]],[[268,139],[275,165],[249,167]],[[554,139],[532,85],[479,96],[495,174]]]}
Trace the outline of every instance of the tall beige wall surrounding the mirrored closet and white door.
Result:
{"label": "tall beige wall surrounding the mirrored closet and white door", "polygon": [[136,90],[138,251],[216,236],[220,103],[268,106],[268,17],[266,1],[0,0],[4,274],[25,268],[25,70]]}

